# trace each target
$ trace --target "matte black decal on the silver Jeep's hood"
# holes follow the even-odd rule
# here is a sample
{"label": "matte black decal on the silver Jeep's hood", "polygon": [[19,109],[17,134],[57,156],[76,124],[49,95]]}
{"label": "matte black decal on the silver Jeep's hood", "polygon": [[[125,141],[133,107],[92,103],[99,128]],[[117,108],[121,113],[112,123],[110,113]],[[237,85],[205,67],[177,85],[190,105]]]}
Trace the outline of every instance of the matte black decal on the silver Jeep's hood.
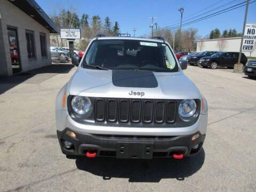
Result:
{"label": "matte black decal on the silver Jeep's hood", "polygon": [[158,86],[152,71],[113,70],[112,82],[119,87],[154,88]]}

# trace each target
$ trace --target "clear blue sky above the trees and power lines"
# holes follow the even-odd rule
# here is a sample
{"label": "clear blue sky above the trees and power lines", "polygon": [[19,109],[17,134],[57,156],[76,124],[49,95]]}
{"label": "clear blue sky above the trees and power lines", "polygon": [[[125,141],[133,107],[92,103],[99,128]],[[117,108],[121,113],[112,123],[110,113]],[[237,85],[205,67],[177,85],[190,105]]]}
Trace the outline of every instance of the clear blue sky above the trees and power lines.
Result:
{"label": "clear blue sky above the trees and power lines", "polygon": [[[149,17],[156,17],[154,23],[156,22],[158,27],[175,27],[179,26],[181,14],[178,9],[180,7],[184,9],[183,23],[186,23],[245,0],[36,0],[36,2],[49,15],[72,7],[79,17],[83,13],[89,14],[89,17],[98,14],[103,21],[108,16],[113,24],[115,21],[119,22],[121,33],[128,32],[133,35],[133,28],[136,28],[135,36],[142,36],[150,34]],[[182,29],[196,28],[198,35],[202,37],[209,35],[214,28],[219,28],[221,31],[235,28],[238,32],[242,32],[244,14],[245,6],[192,23]],[[247,22],[256,23],[256,1],[249,5]]]}

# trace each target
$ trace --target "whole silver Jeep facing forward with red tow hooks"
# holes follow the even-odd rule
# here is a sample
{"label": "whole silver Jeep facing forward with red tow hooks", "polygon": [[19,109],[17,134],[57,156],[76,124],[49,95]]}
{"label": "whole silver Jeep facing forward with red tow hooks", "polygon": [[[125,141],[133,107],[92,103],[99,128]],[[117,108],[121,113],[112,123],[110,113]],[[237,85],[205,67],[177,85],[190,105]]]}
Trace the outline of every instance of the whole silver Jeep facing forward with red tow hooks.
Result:
{"label": "whole silver Jeep facing forward with red tow hooks", "polygon": [[183,158],[202,149],[207,102],[163,38],[97,37],[56,100],[67,157]]}

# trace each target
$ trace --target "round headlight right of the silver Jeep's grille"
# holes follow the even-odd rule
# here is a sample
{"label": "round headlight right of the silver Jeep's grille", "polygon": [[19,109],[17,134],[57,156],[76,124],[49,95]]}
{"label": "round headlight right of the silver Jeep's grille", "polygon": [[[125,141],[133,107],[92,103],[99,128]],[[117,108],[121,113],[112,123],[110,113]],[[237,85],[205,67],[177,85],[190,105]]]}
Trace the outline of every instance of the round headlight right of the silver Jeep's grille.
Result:
{"label": "round headlight right of the silver Jeep's grille", "polygon": [[184,99],[179,106],[180,118],[186,121],[187,118],[193,116],[196,113],[196,101],[194,99]]}

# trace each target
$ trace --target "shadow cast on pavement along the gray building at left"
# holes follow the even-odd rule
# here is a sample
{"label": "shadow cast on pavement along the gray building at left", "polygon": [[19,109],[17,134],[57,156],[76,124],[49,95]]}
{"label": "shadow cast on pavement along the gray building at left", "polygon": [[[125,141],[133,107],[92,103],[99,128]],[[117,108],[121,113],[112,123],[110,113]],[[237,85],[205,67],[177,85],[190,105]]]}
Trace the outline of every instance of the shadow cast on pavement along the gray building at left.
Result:
{"label": "shadow cast on pavement along the gray building at left", "polygon": [[51,66],[42,67],[13,75],[10,77],[0,77],[0,94],[12,89],[14,86],[23,83],[37,84],[41,83],[55,75],[68,73],[74,65],[71,64],[52,64]]}

